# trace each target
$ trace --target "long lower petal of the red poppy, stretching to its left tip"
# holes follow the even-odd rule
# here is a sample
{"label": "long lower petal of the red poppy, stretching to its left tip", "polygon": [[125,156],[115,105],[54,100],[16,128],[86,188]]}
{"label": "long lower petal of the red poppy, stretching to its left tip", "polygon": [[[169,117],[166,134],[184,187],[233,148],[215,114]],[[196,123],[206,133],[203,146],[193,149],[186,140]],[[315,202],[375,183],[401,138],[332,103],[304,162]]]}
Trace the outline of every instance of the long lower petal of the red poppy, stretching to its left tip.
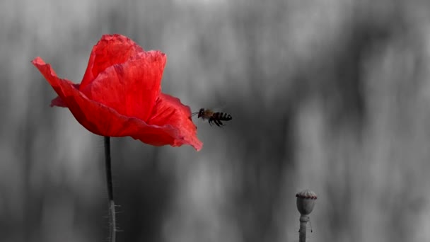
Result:
{"label": "long lower petal of the red poppy, stretching to its left tip", "polygon": [[[76,84],[66,79],[59,79],[50,67],[50,64],[45,64],[40,57],[34,59],[32,63],[39,69],[43,76],[45,76],[45,79],[47,79],[52,88],[58,93],[59,97],[70,109],[76,120],[90,132],[109,137],[131,136],[134,139],[141,140],[141,142],[156,146],[165,144],[170,144],[172,146],[190,144],[197,150],[202,148],[202,143],[195,137],[195,126],[194,132],[192,132],[190,123],[186,123],[184,122],[185,120],[182,120],[184,119],[182,115],[185,113],[189,114],[190,109],[188,108],[187,110],[187,107],[182,104],[182,107],[178,105],[180,102],[177,98],[170,96],[167,100],[165,100],[165,98],[158,98],[158,105],[156,104],[153,113],[158,110],[156,113],[159,113],[159,117],[163,117],[165,116],[163,110],[169,110],[169,103],[173,103],[173,107],[176,106],[176,108],[178,108],[178,110],[174,112],[180,117],[172,117],[170,119],[164,118],[164,120],[170,123],[162,123],[163,119],[156,116],[153,118],[153,121],[158,121],[155,122],[157,125],[149,125],[138,118],[120,115],[116,110],[102,103],[88,99],[85,94],[76,88]],[[188,117],[188,119],[190,119],[190,117]],[[189,122],[192,123],[191,120],[189,120]],[[189,130],[180,130],[182,128]]]}

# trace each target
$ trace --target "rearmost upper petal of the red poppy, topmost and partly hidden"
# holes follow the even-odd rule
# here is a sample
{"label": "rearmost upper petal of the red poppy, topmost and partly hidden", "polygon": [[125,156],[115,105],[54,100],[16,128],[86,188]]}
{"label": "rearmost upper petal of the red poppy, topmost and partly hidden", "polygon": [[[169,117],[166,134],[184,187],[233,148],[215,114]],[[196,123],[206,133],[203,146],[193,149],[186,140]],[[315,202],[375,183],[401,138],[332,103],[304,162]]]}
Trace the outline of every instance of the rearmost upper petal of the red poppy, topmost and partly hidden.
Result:
{"label": "rearmost upper petal of the red poppy, topmost and partly hidden", "polygon": [[124,63],[142,51],[139,45],[123,35],[103,35],[91,51],[81,88],[91,83],[101,71],[114,64]]}

